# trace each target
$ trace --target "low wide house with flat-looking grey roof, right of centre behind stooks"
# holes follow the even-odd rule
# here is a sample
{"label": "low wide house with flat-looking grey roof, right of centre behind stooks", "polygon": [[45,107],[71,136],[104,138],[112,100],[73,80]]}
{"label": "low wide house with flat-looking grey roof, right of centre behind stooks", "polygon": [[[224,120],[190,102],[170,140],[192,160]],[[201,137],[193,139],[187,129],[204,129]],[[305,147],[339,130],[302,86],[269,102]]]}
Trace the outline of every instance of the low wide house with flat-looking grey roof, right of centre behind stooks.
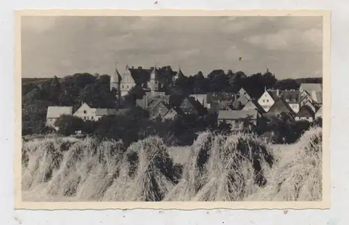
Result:
{"label": "low wide house with flat-looking grey roof, right of centre behind stooks", "polygon": [[218,125],[221,123],[228,123],[231,125],[232,130],[244,129],[244,124],[248,120],[248,126],[258,125],[258,118],[260,114],[257,110],[220,110],[218,113]]}

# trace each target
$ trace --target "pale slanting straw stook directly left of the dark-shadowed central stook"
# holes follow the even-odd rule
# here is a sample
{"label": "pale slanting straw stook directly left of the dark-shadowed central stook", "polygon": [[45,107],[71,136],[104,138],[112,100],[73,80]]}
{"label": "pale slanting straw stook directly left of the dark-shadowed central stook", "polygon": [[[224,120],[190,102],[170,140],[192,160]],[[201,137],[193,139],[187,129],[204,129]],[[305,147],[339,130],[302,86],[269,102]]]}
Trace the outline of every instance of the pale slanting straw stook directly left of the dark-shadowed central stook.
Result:
{"label": "pale slanting straw stook directly left of the dark-shadowed central stook", "polygon": [[118,159],[123,152],[122,144],[114,141],[100,145],[97,139],[87,138],[75,143],[64,155],[59,170],[47,185],[47,193],[52,196],[98,199],[98,194],[105,192],[110,182],[96,183],[96,189],[87,186],[91,185],[91,180],[96,180],[95,176],[117,176]]}

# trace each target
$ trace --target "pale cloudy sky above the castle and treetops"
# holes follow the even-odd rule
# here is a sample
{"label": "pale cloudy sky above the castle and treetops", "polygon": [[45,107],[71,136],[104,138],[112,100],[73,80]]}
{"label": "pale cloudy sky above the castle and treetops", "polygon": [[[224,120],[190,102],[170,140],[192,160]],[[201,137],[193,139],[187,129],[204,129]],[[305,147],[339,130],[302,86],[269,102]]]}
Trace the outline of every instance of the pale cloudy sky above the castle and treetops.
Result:
{"label": "pale cloudy sky above the castle and treetops", "polygon": [[[239,61],[242,57],[242,61]],[[322,76],[321,17],[23,17],[22,77],[179,65]]]}

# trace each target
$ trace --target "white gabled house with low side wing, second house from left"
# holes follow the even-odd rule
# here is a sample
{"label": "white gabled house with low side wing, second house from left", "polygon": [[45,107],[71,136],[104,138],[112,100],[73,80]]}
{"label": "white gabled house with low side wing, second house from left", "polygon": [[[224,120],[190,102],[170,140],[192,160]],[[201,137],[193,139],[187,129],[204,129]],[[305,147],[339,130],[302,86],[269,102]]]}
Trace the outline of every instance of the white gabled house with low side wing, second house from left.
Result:
{"label": "white gabled house with low side wing, second house from left", "polygon": [[116,109],[91,108],[88,104],[82,103],[73,116],[82,118],[84,121],[99,121],[103,116],[117,114]]}

